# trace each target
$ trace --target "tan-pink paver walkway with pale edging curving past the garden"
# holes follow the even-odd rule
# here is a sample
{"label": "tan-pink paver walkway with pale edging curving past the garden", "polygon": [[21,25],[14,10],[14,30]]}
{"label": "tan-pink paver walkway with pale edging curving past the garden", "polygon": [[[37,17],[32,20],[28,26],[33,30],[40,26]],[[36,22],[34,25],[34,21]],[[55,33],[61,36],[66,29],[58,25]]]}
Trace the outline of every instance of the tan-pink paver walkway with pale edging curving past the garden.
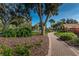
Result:
{"label": "tan-pink paver walkway with pale edging curving past the garden", "polygon": [[76,56],[65,42],[57,40],[54,33],[48,33],[49,51],[48,56]]}

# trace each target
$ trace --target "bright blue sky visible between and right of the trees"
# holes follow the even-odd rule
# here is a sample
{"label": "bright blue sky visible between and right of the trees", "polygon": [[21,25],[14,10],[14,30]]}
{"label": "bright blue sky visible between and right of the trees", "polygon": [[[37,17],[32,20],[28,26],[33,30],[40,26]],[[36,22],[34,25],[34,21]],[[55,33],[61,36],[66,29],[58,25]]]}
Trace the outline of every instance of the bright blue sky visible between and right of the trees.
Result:
{"label": "bright blue sky visible between and right of the trees", "polygon": [[[32,13],[32,25],[39,23],[39,17],[37,14]],[[45,17],[44,17],[45,18]],[[65,3],[59,7],[58,15],[52,16],[55,21],[59,21],[62,18],[73,18],[79,21],[79,4],[77,3]],[[47,27],[50,27],[50,23],[47,22]]]}

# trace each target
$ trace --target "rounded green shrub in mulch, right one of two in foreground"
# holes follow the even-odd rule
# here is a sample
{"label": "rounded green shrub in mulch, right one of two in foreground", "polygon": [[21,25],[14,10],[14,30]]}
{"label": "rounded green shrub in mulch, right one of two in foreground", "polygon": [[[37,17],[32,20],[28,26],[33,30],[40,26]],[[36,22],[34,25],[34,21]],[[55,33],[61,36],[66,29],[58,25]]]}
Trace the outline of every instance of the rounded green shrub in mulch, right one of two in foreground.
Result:
{"label": "rounded green shrub in mulch, right one of two in foreground", "polygon": [[15,47],[15,54],[18,56],[29,56],[31,54],[31,52],[27,46],[17,45]]}

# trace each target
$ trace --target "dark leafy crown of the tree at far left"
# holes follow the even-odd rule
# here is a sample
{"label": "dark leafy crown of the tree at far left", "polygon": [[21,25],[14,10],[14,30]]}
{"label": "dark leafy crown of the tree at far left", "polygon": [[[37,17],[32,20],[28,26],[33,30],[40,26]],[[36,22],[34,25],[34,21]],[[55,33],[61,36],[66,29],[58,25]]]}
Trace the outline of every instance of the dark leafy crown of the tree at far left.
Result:
{"label": "dark leafy crown of the tree at far left", "polygon": [[24,22],[23,19],[31,20],[27,11],[28,8],[24,4],[0,4],[0,19],[3,23],[3,30],[5,31],[10,24],[18,26]]}

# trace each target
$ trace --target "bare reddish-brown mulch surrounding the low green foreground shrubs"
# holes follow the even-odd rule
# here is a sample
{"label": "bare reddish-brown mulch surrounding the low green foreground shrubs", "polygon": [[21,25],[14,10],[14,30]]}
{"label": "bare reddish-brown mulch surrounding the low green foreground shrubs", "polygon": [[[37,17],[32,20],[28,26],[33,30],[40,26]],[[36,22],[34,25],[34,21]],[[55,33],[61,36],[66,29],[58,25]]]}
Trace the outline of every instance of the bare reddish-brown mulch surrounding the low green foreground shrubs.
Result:
{"label": "bare reddish-brown mulch surrounding the low green foreground shrubs", "polygon": [[49,40],[47,36],[32,36],[32,37],[18,37],[18,38],[4,38],[0,37],[0,44],[7,45],[9,47],[15,47],[17,44],[34,44],[42,40],[43,44],[31,49],[32,56],[45,56],[48,53]]}

